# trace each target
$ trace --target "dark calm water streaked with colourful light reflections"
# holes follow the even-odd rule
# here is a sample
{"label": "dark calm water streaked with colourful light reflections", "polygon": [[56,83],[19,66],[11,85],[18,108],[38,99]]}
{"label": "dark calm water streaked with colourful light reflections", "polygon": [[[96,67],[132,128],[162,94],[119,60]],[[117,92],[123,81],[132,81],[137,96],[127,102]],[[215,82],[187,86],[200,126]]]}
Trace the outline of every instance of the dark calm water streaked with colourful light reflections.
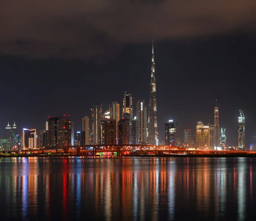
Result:
{"label": "dark calm water streaked with colourful light reflections", "polygon": [[0,158],[7,220],[254,220],[256,158]]}

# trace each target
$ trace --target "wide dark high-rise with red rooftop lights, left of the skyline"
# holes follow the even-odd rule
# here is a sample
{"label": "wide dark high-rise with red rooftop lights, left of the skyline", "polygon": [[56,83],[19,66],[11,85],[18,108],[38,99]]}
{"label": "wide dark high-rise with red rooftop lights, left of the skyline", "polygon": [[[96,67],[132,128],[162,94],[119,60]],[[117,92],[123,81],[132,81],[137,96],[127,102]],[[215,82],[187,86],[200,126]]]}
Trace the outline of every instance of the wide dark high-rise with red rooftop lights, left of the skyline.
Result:
{"label": "wide dark high-rise with red rooftop lights, left of the skyline", "polygon": [[69,115],[48,117],[48,147],[74,145],[73,122]]}

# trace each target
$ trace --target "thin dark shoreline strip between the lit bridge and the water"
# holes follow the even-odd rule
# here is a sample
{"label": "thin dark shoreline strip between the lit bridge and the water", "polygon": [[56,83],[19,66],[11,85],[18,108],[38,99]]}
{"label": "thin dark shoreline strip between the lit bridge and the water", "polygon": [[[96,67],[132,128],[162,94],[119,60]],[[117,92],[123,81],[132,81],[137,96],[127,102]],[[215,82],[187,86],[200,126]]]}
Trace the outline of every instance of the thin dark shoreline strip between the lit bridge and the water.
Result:
{"label": "thin dark shoreline strip between the lit bridge and the water", "polygon": [[[93,157],[88,155],[68,154],[68,155],[19,155],[19,156],[4,156],[0,155],[0,158],[3,157]],[[109,158],[117,156],[97,156],[96,158]],[[156,155],[123,155],[120,157],[256,157],[256,154],[156,154]]]}

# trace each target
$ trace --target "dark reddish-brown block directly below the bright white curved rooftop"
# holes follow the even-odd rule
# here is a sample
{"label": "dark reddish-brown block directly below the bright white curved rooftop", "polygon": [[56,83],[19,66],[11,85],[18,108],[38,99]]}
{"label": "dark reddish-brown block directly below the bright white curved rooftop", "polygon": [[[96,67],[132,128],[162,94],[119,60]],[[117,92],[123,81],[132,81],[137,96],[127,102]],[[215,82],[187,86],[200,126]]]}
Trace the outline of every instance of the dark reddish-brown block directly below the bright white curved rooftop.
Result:
{"label": "dark reddish-brown block directly below the bright white curved rooftop", "polygon": [[116,120],[108,119],[105,121],[105,145],[116,144]]}

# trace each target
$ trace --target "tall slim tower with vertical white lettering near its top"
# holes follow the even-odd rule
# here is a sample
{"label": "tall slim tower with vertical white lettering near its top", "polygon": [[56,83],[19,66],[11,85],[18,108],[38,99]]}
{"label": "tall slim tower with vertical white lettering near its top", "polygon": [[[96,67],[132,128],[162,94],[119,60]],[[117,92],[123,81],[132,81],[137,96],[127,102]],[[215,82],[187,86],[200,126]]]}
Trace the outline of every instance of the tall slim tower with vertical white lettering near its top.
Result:
{"label": "tall slim tower with vertical white lettering near its top", "polygon": [[137,121],[139,122],[139,142],[147,143],[147,107],[145,100],[137,102]]}

